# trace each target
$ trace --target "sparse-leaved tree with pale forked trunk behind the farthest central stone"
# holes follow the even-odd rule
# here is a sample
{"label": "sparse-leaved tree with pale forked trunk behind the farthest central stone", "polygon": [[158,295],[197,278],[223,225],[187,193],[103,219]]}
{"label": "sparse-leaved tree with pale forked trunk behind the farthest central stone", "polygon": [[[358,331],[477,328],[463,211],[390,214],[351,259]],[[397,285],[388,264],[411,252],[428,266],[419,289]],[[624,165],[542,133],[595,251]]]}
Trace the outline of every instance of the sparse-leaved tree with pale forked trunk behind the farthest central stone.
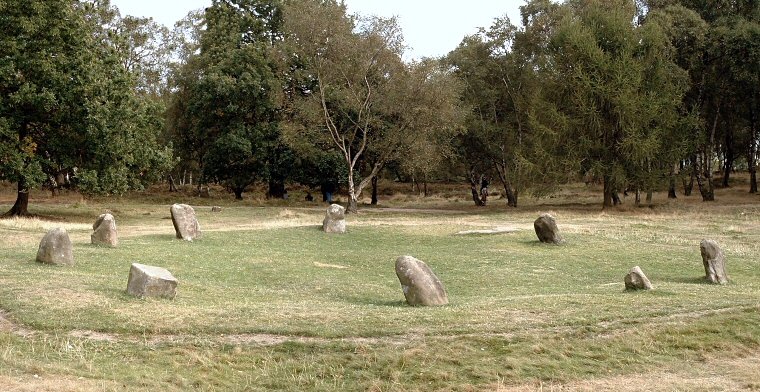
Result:
{"label": "sparse-leaved tree with pale forked trunk behind the farthest central stone", "polygon": [[[292,57],[302,65],[302,112],[318,115],[299,132],[317,126],[342,155],[348,172],[348,211],[357,211],[363,189],[385,164],[431,131],[448,129],[455,97],[438,86],[447,75],[427,64],[401,61],[403,38],[395,19],[357,19],[334,0],[288,3],[285,14]],[[313,81],[313,82],[311,82]],[[443,82],[445,84],[445,82]],[[437,91],[441,96],[431,95]],[[440,111],[443,109],[443,111]],[[317,114],[318,113],[318,114]],[[438,127],[434,117],[442,115]],[[318,125],[321,123],[321,125]],[[358,178],[365,153],[376,157]]]}

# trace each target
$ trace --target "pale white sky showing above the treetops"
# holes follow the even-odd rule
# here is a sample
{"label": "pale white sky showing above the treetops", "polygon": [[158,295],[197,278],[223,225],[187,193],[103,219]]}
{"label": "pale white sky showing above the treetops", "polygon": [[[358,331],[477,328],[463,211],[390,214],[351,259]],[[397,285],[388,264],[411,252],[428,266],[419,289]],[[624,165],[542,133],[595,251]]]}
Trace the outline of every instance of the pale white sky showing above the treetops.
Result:
{"label": "pale white sky showing above the treetops", "polygon": [[[406,58],[438,57],[456,48],[478,27],[490,27],[497,17],[519,24],[524,0],[345,0],[350,13],[398,16],[410,49]],[[111,0],[122,15],[152,17],[172,27],[188,12],[211,0]]]}

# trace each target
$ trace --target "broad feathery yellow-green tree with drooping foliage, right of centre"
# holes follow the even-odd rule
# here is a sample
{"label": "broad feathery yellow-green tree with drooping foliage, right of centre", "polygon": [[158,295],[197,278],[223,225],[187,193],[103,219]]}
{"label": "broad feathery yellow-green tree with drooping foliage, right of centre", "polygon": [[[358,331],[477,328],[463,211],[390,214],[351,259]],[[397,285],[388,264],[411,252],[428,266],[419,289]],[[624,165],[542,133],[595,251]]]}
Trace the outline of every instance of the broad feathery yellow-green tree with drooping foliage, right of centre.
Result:
{"label": "broad feathery yellow-green tree with drooping foliage, right of centre", "polygon": [[[565,141],[584,172],[604,183],[604,206],[629,184],[651,190],[666,178],[673,152],[663,144],[678,126],[686,74],[656,23],[634,23],[633,1],[571,1],[557,19],[549,53],[553,100]],[[663,173],[665,172],[665,173]]]}

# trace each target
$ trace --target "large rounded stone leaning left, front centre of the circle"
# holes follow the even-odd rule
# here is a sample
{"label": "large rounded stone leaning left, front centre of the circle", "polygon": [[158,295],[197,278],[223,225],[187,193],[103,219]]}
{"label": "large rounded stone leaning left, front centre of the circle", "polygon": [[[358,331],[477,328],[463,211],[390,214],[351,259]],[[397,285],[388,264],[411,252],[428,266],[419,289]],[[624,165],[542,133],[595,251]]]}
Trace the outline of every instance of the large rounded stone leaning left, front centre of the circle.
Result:
{"label": "large rounded stone leaning left, front centre of the circle", "polygon": [[396,276],[407,304],[440,306],[449,303],[443,284],[424,261],[412,256],[399,257],[396,259]]}

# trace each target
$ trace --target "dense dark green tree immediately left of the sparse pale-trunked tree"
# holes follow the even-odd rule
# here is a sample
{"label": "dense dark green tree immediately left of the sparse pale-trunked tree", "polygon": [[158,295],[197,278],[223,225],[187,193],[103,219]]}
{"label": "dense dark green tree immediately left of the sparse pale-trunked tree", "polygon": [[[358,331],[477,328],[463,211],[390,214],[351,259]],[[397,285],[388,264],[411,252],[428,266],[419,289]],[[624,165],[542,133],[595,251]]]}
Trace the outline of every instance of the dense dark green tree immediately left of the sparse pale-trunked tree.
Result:
{"label": "dense dark green tree immediately left of the sparse pale-trunked tree", "polygon": [[282,85],[274,45],[278,1],[215,0],[206,9],[198,53],[176,76],[172,125],[183,153],[208,181],[242,199],[264,179],[282,196],[292,158],[280,140]]}

